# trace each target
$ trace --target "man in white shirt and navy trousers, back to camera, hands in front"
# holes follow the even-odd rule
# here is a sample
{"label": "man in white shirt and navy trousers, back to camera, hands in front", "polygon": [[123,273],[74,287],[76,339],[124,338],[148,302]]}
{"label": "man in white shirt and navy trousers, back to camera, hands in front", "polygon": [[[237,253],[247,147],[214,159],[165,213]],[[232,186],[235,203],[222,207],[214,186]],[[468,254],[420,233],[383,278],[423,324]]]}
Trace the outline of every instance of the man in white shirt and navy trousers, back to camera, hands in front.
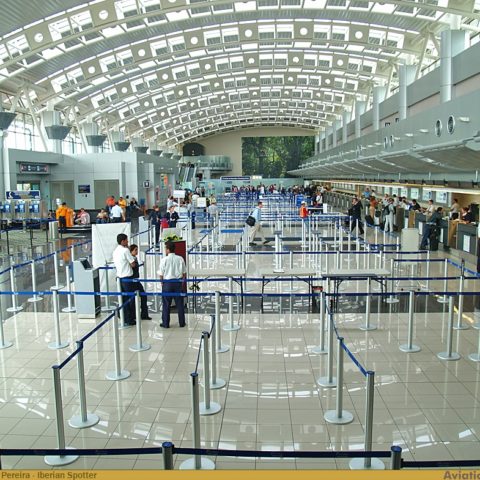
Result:
{"label": "man in white shirt and navy trousers, back to camera, hands in front", "polygon": [[[185,260],[179,255],[175,255],[175,243],[166,242],[165,250],[167,256],[160,261],[158,274],[162,281],[162,293],[182,293],[187,278],[187,267]],[[185,326],[185,305],[183,297],[162,296],[162,323],[163,328],[170,328],[170,306],[172,299],[175,298],[175,305],[178,311],[178,323],[180,327]]]}

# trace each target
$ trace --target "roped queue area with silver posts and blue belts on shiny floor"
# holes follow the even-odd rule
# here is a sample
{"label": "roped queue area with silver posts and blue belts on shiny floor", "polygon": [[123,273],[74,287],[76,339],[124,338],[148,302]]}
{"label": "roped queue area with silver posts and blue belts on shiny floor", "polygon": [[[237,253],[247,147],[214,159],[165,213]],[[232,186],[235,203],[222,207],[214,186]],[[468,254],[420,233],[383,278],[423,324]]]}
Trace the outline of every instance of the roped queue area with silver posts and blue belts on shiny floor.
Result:
{"label": "roped queue area with silver posts and blue belts on shiny floor", "polygon": [[170,295],[186,328],[175,311],[159,325],[164,242],[143,219],[129,243],[152,320],[133,327],[121,297],[139,319],[142,294],[119,291],[103,261],[110,233],[13,255],[1,272],[3,468],[475,464],[473,267],[418,250],[410,229],[352,234],[334,206],[302,220],[289,195],[260,198],[268,242],[252,246],[258,200],[219,197],[195,229],[181,216],[187,287]]}

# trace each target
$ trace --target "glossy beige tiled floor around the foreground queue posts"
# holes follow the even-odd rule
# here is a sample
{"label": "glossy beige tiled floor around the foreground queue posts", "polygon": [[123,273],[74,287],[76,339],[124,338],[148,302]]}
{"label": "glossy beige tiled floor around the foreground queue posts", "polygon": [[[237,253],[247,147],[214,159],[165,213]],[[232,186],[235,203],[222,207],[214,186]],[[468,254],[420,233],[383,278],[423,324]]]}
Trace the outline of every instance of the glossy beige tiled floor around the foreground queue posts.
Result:
{"label": "glossy beige tiled floor around the foreground queue posts", "polygon": [[[253,259],[254,257],[252,257]],[[271,258],[259,255],[258,264]],[[228,262],[226,262],[228,264]],[[438,267],[440,269],[440,267]],[[432,271],[434,273],[434,271]],[[438,272],[437,272],[438,273]],[[473,281],[469,289],[476,288]],[[441,282],[432,288],[441,288]],[[225,285],[213,288],[225,289]],[[267,291],[283,291],[271,284]],[[355,282],[345,291],[361,287]],[[250,282],[251,291],[259,284]],[[453,287],[451,287],[453,288]],[[302,290],[303,289],[303,290]],[[300,292],[305,284],[300,284]],[[357,301],[357,300],[353,300]],[[361,302],[364,300],[361,299]],[[275,302],[275,300],[274,300]],[[431,308],[429,308],[429,305]],[[422,304],[427,312],[415,315],[414,343],[422,350],[406,354],[408,315],[398,307],[373,310],[371,322],[378,329],[364,332],[358,327],[363,313],[339,313],[335,322],[345,344],[368,370],[375,371],[375,415],[373,448],[403,448],[405,459],[476,459],[480,440],[480,366],[468,359],[478,346],[478,333],[470,328],[455,331],[453,349],[457,362],[439,360],[446,349],[447,307],[430,297]],[[433,308],[435,307],[435,308]],[[35,306],[31,306],[35,308]],[[358,307],[362,311],[363,306]],[[281,312],[235,314],[242,328],[223,332],[222,343],[230,346],[219,354],[218,376],[227,386],[211,392],[222,405],[217,415],[201,417],[202,446],[222,449],[275,451],[361,450],[364,447],[365,378],[345,357],[344,408],[354,415],[349,425],[324,420],[335,409],[336,389],[320,387],[316,380],[326,373],[327,357],[314,355],[319,342],[318,314]],[[400,313],[398,313],[400,311]],[[228,315],[222,315],[227,321]],[[62,369],[66,443],[77,448],[122,448],[192,446],[190,373],[195,368],[201,332],[208,329],[209,316],[190,314],[188,327],[161,329],[160,317],[144,321],[144,341],[152,348],[134,353],[135,330],[120,332],[122,368],[131,376],[123,381],[106,380],[114,369],[111,326],[106,325],[85,343],[87,404],[100,417],[94,427],[77,430],[68,419],[79,412],[77,365]],[[476,321],[471,310],[463,321]],[[0,445],[4,448],[56,447],[56,424],[51,366],[73,351],[75,340],[96,324],[61,314],[62,336],[70,342],[63,350],[50,350],[55,339],[52,314],[20,312],[4,323],[5,337],[14,346],[0,350]],[[336,347],[335,347],[336,352]],[[202,367],[200,366],[200,371]],[[201,373],[202,375],[202,373]],[[185,457],[175,459],[175,467]],[[348,468],[347,459],[275,459],[272,457],[218,457],[216,467],[246,469]],[[41,457],[4,457],[3,468],[48,468]],[[160,455],[85,457],[67,468],[162,468]]]}

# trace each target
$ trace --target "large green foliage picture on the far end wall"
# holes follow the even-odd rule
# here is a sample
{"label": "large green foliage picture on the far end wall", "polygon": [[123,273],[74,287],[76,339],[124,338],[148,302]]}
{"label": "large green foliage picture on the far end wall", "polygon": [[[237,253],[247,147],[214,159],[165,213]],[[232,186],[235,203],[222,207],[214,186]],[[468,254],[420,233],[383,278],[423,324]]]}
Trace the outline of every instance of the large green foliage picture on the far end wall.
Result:
{"label": "large green foliage picture on the far end wall", "polygon": [[264,178],[286,177],[289,170],[314,154],[315,137],[244,137],[242,164],[244,175]]}

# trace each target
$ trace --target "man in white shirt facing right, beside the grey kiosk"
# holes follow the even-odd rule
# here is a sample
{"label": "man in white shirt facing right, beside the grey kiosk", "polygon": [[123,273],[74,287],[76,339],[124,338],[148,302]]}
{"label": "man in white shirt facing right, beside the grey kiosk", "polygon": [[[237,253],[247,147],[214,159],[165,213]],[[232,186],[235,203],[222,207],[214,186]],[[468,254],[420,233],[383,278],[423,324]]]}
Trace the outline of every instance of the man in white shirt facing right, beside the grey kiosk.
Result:
{"label": "man in white shirt facing right, beside the grey kiosk", "polygon": [[[130,253],[128,248],[128,237],[124,233],[117,235],[118,247],[113,251],[113,263],[117,270],[117,277],[120,279],[120,286],[122,292],[136,292],[140,290],[141,284],[139,282],[132,282],[133,279],[133,266],[136,264],[135,257]],[[125,325],[135,325],[135,299],[131,296],[122,295],[122,305],[128,300],[132,299],[125,307],[124,319]],[[142,320],[151,320],[148,316],[148,312],[142,316]]]}

